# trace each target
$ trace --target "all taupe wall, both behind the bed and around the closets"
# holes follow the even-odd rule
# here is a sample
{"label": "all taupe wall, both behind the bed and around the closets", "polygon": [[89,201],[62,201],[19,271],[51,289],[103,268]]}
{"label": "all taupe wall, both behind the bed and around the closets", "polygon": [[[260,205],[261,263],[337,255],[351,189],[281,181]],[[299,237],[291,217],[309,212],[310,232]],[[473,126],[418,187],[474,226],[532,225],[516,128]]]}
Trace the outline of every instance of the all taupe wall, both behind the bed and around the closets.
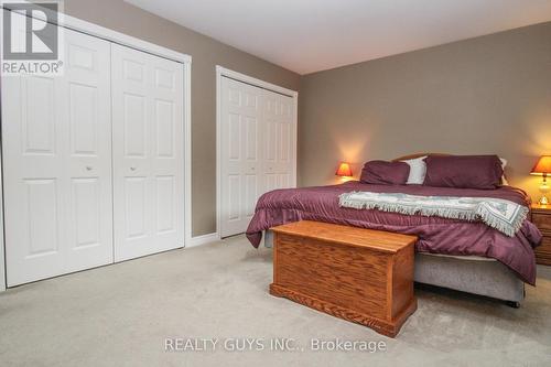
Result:
{"label": "all taupe wall, both behind the bed and around the closets", "polygon": [[[298,74],[122,0],[65,0],[65,11],[193,57],[193,235],[216,227],[215,65],[301,91],[299,182],[335,182],[338,161],[420,151],[497,153],[511,183],[551,153],[551,23],[376,61]],[[360,46],[360,45],[358,45]]]}

